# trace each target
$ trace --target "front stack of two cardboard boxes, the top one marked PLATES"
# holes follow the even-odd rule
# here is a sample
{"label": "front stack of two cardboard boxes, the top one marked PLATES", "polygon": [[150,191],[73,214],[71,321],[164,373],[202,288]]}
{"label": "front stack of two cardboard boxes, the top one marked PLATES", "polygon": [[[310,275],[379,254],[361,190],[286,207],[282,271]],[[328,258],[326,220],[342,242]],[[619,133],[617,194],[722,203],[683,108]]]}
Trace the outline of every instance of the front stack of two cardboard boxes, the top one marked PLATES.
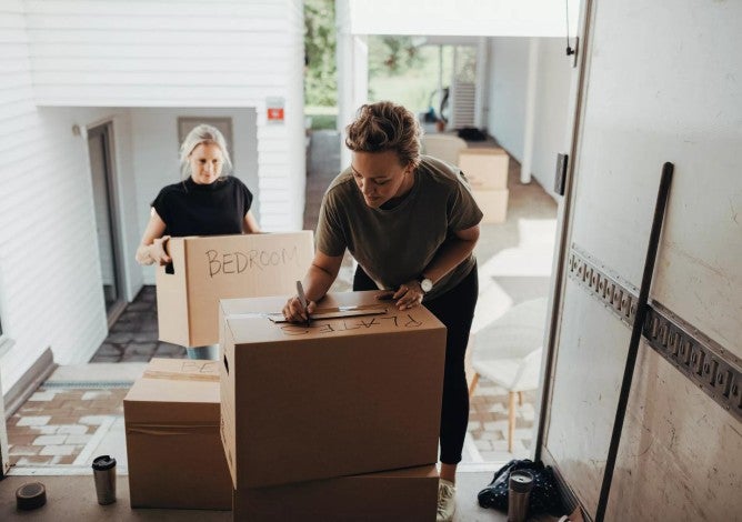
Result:
{"label": "front stack of two cardboard boxes, the top one marked PLATES", "polygon": [[445,328],[423,307],[400,312],[377,294],[328,295],[318,315],[375,314],[309,327],[268,315],[285,297],[221,301],[235,520],[434,516]]}

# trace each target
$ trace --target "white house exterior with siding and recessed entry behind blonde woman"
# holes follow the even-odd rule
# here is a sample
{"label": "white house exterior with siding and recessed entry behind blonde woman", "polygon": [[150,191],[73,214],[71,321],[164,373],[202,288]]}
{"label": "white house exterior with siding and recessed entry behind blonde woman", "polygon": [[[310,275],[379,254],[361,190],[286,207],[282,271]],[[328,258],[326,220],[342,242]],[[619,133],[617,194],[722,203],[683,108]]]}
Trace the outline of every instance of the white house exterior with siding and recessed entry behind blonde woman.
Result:
{"label": "white house exterior with siding and recessed entry behind blonde woman", "polygon": [[[300,0],[3,0],[0,66],[3,393],[48,349],[87,362],[108,331],[89,129],[111,124],[126,300],[152,282],[133,254],[149,203],[179,179],[179,117],[231,118],[261,227],[301,228]],[[269,122],[281,103],[284,120]]]}

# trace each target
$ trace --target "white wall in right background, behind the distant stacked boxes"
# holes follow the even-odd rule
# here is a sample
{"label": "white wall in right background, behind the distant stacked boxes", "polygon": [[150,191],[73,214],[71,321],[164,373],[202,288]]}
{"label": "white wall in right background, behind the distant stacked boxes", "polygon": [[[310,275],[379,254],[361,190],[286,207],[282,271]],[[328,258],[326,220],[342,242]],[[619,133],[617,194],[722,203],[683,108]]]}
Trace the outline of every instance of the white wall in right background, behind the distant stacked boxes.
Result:
{"label": "white wall in right background, behind the distant stacked boxes", "polygon": [[[488,132],[524,163],[529,38],[490,39]],[[531,174],[552,195],[556,154],[564,152],[571,82],[565,42],[539,38]]]}

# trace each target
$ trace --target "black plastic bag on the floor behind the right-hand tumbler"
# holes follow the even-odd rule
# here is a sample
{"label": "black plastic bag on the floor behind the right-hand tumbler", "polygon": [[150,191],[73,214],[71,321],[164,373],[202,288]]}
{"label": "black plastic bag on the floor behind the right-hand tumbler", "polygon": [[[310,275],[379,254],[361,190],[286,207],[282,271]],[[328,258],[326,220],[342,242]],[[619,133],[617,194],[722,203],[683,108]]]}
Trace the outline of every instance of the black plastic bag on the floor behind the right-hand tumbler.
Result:
{"label": "black plastic bag on the floor behind the right-hand tumbler", "polygon": [[529,498],[529,516],[549,513],[554,516],[564,514],[564,505],[556,488],[556,480],[551,466],[541,461],[529,459],[512,460],[500,468],[492,478],[490,485],[479,492],[477,499],[482,508],[493,508],[498,511],[508,511],[508,481],[510,473],[517,470],[527,470],[533,475],[533,489]]}

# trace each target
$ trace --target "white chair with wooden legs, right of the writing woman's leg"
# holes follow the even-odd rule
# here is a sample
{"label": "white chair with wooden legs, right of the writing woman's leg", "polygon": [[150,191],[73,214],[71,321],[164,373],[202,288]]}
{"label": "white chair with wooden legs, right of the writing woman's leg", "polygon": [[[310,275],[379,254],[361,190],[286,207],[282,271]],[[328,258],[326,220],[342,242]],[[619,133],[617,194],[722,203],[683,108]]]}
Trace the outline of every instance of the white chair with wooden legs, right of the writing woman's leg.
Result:
{"label": "white chair with wooden legs, right of the writing woman's leg", "polygon": [[469,395],[482,375],[508,390],[508,451],[513,451],[515,394],[523,405],[522,392],[539,388],[547,298],[524,301],[508,310],[473,334],[474,377]]}

